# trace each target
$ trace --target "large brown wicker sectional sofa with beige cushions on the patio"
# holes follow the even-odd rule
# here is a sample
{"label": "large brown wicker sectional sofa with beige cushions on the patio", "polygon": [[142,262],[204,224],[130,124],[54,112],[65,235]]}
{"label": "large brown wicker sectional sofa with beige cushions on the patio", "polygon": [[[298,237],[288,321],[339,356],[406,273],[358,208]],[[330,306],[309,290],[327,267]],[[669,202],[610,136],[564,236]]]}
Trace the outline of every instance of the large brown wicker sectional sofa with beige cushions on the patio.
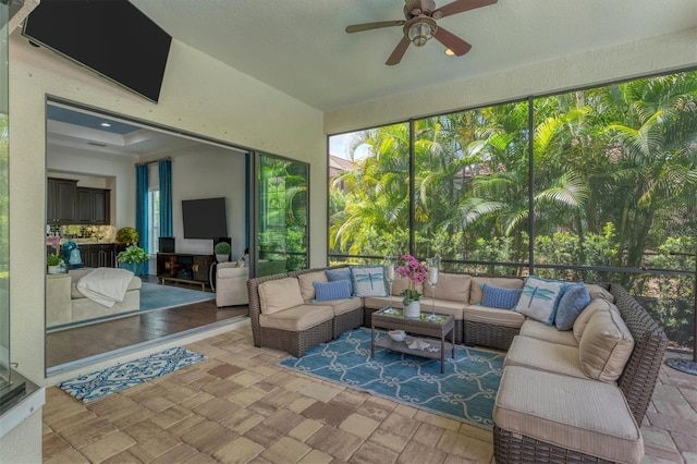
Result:
{"label": "large brown wicker sectional sofa with beige cushions on the patio", "polygon": [[[370,327],[372,313],[401,305],[407,284],[395,281],[391,296],[314,302],[313,282],[326,282],[325,270],[248,281],[256,346],[299,357],[346,330]],[[568,331],[482,305],[484,284],[524,283],[441,272],[435,294],[419,289],[421,312],[432,305],[453,315],[456,343],[506,351],[493,411],[497,463],[639,462],[639,427],[668,346],[663,331],[619,284],[586,285],[591,301]]]}

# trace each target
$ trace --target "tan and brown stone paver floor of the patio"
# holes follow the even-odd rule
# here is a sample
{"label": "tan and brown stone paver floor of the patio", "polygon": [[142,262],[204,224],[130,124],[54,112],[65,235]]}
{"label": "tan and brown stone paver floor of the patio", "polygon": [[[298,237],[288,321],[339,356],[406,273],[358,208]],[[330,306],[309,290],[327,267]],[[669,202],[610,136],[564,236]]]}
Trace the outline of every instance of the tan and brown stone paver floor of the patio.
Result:
{"label": "tan and brown stone paver floor of the patio", "polygon": [[[44,462],[493,462],[490,431],[282,369],[248,326],[186,347],[208,359],[93,403],[48,388]],[[696,411],[697,377],[664,366],[644,463],[697,463]]]}

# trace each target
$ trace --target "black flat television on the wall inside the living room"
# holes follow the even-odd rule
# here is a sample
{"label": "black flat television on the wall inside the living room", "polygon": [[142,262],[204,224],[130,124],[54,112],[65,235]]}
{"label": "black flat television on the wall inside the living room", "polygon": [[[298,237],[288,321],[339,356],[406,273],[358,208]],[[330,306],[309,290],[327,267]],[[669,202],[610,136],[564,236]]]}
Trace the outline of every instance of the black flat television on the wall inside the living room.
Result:
{"label": "black flat television on the wall inside the living room", "polygon": [[182,200],[184,239],[219,239],[228,236],[225,198]]}

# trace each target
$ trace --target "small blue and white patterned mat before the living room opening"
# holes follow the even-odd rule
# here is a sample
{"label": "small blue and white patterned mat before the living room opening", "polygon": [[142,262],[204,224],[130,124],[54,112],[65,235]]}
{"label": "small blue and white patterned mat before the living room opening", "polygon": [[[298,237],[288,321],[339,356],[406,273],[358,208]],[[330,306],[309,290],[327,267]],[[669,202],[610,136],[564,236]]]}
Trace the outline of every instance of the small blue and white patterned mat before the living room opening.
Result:
{"label": "small blue and white patterned mat before the living room opening", "polygon": [[76,400],[89,403],[204,359],[206,356],[203,354],[183,347],[173,347],[148,357],[65,380],[58,387]]}

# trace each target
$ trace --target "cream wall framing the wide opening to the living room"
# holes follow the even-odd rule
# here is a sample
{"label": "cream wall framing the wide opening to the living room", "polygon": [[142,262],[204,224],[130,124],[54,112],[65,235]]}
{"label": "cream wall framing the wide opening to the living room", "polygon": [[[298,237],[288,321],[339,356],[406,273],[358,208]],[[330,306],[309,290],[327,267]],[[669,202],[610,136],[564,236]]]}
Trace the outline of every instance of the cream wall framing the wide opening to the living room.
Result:
{"label": "cream wall framing the wide opening to the living room", "polygon": [[[11,356],[17,369],[39,384],[45,383],[47,95],[310,162],[317,167],[310,188],[320,193],[313,199],[311,215],[326,216],[327,148],[318,110],[178,40],[172,40],[160,101],[155,105],[49,50],[32,47],[14,30],[10,36]],[[134,205],[134,200],[118,204]],[[326,264],[326,222],[313,221],[310,227],[311,266]]]}

